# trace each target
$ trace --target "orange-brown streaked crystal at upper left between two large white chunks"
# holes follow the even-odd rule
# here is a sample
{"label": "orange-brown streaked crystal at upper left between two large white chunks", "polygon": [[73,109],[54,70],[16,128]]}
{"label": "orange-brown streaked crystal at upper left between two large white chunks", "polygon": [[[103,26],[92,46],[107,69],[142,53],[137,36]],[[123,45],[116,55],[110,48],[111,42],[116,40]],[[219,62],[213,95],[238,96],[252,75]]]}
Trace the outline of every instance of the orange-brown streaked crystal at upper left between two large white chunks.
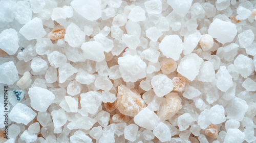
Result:
{"label": "orange-brown streaked crystal at upper left between two large white chunks", "polygon": [[48,38],[52,40],[59,40],[65,37],[66,30],[63,26],[57,25],[50,33]]}

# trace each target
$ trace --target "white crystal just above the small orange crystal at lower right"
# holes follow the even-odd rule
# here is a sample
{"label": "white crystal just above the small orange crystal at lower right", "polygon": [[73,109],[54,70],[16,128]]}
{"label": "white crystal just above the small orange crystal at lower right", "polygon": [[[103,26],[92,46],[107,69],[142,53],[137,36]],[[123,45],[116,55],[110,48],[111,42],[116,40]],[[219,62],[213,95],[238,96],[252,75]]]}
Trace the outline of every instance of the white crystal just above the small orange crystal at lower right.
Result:
{"label": "white crystal just above the small orange crystal at lower right", "polygon": [[226,121],[225,109],[221,105],[215,105],[210,108],[209,120],[212,124],[220,124]]}

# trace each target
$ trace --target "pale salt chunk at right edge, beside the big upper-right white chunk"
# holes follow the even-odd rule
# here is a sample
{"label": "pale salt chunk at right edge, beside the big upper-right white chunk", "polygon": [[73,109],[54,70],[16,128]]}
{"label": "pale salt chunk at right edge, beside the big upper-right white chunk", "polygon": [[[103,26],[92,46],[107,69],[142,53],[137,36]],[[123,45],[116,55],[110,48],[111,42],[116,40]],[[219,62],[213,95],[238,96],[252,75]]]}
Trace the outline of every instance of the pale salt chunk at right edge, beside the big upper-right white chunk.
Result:
{"label": "pale salt chunk at right edge, beside the big upper-right white chunk", "polygon": [[252,30],[249,29],[242,32],[241,34],[238,34],[238,39],[239,39],[240,46],[247,47],[253,42],[254,34]]}

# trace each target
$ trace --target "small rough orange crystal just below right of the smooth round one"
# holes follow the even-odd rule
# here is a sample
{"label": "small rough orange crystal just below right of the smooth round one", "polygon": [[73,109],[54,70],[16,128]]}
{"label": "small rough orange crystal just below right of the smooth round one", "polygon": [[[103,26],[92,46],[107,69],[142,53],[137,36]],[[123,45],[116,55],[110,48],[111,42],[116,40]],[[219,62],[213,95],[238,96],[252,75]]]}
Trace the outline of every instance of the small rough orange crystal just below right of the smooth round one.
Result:
{"label": "small rough orange crystal just below right of the smooth round one", "polygon": [[173,78],[174,91],[184,91],[187,85],[187,80],[183,77]]}

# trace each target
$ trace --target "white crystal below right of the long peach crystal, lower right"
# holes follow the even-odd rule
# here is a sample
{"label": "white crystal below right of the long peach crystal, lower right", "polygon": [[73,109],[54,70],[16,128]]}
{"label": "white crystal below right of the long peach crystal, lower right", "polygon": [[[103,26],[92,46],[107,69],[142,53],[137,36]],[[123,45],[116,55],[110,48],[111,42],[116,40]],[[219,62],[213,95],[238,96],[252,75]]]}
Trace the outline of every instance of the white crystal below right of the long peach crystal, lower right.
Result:
{"label": "white crystal below right of the long peach crystal, lower right", "polygon": [[186,130],[193,122],[193,117],[189,113],[184,113],[178,117],[177,124],[180,131]]}

